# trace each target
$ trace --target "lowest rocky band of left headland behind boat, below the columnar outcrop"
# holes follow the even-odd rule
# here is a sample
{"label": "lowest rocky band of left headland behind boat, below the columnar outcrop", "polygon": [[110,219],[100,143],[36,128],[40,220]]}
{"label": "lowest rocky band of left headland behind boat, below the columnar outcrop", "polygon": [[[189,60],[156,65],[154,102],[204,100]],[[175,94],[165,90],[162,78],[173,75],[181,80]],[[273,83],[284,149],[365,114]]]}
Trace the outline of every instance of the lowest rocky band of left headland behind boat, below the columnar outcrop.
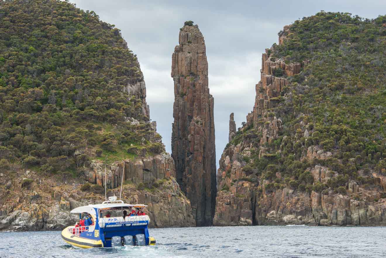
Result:
{"label": "lowest rocky band of left headland behind boat, below the columnar outcrop", "polygon": [[[17,176],[18,179],[9,181],[12,183],[2,195],[5,200],[0,214],[0,230],[63,229],[79,220],[78,214],[70,214],[72,209],[105,200],[102,186],[91,185],[90,189],[82,191],[80,189],[85,186],[82,184],[85,182],[79,179],[59,176],[47,178],[39,176],[35,171],[25,170],[17,172]],[[2,176],[1,183],[4,178],[7,176]],[[108,190],[107,196],[119,196],[119,193],[120,186]],[[146,210],[151,219],[149,227],[195,226],[190,202],[180,191],[174,178],[158,180],[157,187],[152,187],[151,190],[125,182],[122,200],[126,203],[149,205]]]}

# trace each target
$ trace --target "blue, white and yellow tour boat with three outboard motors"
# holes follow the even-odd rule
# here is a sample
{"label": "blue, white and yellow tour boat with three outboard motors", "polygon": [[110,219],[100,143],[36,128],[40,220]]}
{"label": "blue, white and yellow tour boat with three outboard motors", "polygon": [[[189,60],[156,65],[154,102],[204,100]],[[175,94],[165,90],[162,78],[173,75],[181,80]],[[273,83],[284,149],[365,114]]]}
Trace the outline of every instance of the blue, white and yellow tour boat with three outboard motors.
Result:
{"label": "blue, white and yellow tour boat with three outboard motors", "polygon": [[[135,214],[135,210],[141,211],[145,207],[147,205],[127,204],[112,196],[102,204],[75,208],[71,213],[79,214],[81,224],[77,222],[75,226],[63,229],[62,238],[78,248],[155,245],[156,240],[149,236],[147,229],[149,216],[143,212],[130,216],[130,213]],[[91,217],[90,226],[83,226],[82,214]]]}

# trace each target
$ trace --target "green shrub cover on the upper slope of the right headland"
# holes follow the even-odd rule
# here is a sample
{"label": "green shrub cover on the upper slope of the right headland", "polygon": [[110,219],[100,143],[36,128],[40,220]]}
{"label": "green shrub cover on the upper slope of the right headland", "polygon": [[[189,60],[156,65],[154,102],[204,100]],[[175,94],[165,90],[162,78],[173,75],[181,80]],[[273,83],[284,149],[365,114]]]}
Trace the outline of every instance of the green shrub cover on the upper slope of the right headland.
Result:
{"label": "green shrub cover on the upper slope of the right headland", "polygon": [[[280,73],[290,84],[266,116],[280,118],[283,128],[265,144],[266,154],[259,158],[252,150],[252,158],[244,158],[244,171],[272,180],[268,188],[300,191],[330,187],[342,192],[349,179],[379,183],[371,172],[386,175],[386,16],[368,20],[319,12],[295,21],[279,36],[284,40],[269,50],[271,60],[302,62],[301,72],[291,77]],[[261,137],[253,125],[245,125],[230,144],[249,138],[259,145]],[[310,146],[332,155],[303,159]],[[339,176],[312,186],[307,168],[316,164]]]}

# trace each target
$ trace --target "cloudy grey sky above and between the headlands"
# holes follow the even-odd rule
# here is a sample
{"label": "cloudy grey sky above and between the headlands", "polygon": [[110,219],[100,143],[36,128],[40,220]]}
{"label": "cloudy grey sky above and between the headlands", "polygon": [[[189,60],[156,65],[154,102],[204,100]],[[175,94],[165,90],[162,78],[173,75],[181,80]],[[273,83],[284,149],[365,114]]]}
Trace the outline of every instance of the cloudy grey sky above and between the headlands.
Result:
{"label": "cloudy grey sky above and between the headlands", "polygon": [[[229,115],[236,127],[246,121],[260,80],[261,55],[277,33],[293,21],[326,12],[349,12],[364,18],[386,14],[385,0],[146,1],[70,0],[95,11],[121,30],[138,57],[146,82],[150,118],[157,121],[166,151],[171,152],[174,84],[171,55],[185,21],[198,24],[205,38],[210,93],[214,97],[216,160],[228,143]],[[217,162],[218,168],[218,162]]]}

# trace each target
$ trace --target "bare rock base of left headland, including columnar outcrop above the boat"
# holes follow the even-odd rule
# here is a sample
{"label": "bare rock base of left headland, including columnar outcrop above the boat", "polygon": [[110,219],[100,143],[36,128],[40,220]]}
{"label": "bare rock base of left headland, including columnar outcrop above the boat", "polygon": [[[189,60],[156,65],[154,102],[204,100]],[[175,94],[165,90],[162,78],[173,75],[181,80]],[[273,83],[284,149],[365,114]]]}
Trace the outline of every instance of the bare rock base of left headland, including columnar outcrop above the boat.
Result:
{"label": "bare rock base of left headland, including columnar outcrop above the boat", "polygon": [[[142,90],[146,92],[146,88]],[[139,124],[136,120],[134,123]],[[141,123],[142,126],[143,123],[150,124]],[[155,122],[148,127],[146,135],[144,137],[154,143],[161,142],[154,136],[157,135]],[[21,166],[12,167],[12,171],[1,171],[0,230],[59,230],[74,224],[79,218],[69,213],[72,209],[105,200],[105,178],[107,196],[119,196],[123,181],[124,202],[148,205],[149,227],[195,226],[190,201],[175,179],[176,170],[170,154],[164,152],[163,147],[157,150],[159,154],[147,152],[148,149],[131,147],[127,156],[134,151],[133,158],[106,166],[102,160],[92,160],[82,167],[80,177],[47,176]]]}

